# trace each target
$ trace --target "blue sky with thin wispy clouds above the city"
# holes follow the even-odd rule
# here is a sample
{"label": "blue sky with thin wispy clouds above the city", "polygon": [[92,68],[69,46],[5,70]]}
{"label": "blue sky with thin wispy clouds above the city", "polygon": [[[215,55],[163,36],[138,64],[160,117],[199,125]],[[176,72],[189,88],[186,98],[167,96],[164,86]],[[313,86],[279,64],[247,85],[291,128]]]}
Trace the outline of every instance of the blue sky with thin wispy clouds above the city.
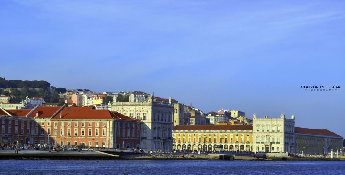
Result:
{"label": "blue sky with thin wispy clouds above the city", "polygon": [[[0,1],[0,77],[295,114],[345,136],[343,1]],[[301,85],[340,85],[305,92]]]}

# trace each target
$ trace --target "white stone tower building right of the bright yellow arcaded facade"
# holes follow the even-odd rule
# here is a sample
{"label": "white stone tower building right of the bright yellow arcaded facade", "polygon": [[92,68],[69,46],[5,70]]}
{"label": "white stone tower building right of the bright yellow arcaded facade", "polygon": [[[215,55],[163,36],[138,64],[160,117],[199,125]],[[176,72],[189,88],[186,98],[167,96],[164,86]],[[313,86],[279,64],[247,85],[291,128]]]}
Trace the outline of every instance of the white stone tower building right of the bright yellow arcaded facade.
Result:
{"label": "white stone tower building right of the bright yellow arcaded facade", "polygon": [[253,151],[254,152],[295,152],[294,147],[295,116],[286,119],[284,113],[280,118],[256,118],[253,115]]}

